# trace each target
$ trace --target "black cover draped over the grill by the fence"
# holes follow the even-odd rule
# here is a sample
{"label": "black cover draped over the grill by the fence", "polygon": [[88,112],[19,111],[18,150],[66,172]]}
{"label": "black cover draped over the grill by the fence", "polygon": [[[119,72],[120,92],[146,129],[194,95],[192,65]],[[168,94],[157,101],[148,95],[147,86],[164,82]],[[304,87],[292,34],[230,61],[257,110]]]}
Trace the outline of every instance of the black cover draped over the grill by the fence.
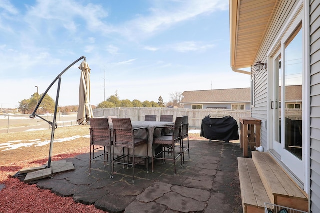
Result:
{"label": "black cover draped over the grill by the fence", "polygon": [[238,124],[231,116],[210,118],[208,115],[202,120],[200,136],[210,140],[238,140]]}

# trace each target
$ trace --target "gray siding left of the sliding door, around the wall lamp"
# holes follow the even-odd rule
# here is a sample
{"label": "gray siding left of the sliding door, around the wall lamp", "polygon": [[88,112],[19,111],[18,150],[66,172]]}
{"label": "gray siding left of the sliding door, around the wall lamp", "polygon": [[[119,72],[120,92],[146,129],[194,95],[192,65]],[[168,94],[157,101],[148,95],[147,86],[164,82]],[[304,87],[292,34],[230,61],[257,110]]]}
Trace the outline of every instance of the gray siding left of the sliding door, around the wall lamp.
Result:
{"label": "gray siding left of the sliding door, around the wall lamp", "polygon": [[[256,58],[252,61],[255,64],[256,61],[262,61],[266,63],[267,52],[270,47],[276,42],[283,25],[288,21],[292,10],[297,2],[295,0],[279,0],[275,6],[276,11],[271,17],[270,25],[266,29],[265,37],[261,43],[261,46],[257,52]],[[267,144],[267,70],[256,71],[252,66],[252,74],[254,75],[254,107],[251,108],[251,116],[261,119],[261,145],[266,148]],[[253,77],[253,76],[251,76]]]}

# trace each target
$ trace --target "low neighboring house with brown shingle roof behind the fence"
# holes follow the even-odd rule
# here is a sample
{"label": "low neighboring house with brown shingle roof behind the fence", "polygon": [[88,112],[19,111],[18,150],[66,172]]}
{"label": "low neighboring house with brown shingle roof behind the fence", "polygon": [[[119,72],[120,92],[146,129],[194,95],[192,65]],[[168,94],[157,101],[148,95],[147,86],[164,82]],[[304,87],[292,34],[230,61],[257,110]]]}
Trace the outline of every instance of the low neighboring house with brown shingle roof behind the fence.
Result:
{"label": "low neighboring house with brown shingle roof behind the fence", "polygon": [[250,109],[250,88],[184,91],[184,108]]}

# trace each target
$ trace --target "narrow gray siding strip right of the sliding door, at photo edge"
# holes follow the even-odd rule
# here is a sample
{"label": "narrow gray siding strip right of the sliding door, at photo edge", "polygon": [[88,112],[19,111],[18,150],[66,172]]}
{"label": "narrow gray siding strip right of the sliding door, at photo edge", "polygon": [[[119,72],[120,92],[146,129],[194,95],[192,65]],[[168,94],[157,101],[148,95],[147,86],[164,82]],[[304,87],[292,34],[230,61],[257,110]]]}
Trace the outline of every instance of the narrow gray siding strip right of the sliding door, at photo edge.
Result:
{"label": "narrow gray siding strip right of the sliding door, at photo edge", "polygon": [[320,1],[310,0],[310,210],[320,212]]}

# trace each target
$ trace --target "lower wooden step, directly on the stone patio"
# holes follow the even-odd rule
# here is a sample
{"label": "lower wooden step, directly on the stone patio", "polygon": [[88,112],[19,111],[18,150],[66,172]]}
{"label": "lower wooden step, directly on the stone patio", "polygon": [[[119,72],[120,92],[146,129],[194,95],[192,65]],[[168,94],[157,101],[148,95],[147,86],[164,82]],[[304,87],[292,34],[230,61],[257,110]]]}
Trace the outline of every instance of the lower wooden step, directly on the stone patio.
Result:
{"label": "lower wooden step, directly on the stone patio", "polygon": [[264,202],[270,200],[253,160],[238,157],[238,170],[243,212],[264,212]]}

